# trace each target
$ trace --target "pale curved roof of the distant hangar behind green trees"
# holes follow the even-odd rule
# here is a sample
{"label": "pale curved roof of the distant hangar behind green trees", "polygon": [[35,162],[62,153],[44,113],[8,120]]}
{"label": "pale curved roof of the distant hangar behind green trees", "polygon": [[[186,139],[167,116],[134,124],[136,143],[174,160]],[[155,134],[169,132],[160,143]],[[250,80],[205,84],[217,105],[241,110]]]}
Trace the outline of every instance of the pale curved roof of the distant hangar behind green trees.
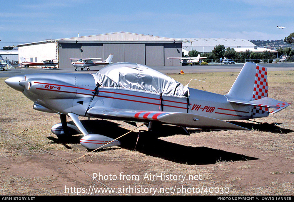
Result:
{"label": "pale curved roof of the distant hangar behind green trees", "polygon": [[[254,47],[255,44],[245,39],[225,39],[225,38],[178,38],[183,40],[183,43],[189,43],[193,46],[217,46],[224,45],[225,47]],[[188,45],[188,44],[187,44]]]}

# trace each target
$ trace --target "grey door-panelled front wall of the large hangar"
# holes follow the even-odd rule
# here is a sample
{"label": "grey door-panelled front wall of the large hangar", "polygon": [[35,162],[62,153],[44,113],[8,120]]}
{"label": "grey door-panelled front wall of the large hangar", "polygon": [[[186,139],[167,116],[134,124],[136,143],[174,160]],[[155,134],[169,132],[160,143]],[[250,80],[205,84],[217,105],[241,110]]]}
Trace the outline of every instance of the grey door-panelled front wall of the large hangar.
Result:
{"label": "grey door-panelled front wall of the large hangar", "polygon": [[72,68],[69,58],[106,58],[113,53],[112,62],[135,62],[147,66],[177,66],[182,57],[182,43],[64,43],[59,42],[59,67]]}

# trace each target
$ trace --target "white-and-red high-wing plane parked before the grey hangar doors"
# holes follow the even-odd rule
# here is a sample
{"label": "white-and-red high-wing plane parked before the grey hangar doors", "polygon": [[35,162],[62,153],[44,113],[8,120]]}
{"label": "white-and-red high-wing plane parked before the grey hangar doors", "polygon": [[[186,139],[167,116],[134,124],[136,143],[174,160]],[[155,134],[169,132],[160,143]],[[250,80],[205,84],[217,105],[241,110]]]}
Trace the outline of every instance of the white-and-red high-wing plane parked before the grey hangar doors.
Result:
{"label": "white-and-red high-wing plane parked before the grey hangar doors", "polygon": [[[87,70],[90,70],[88,67],[90,66],[96,66],[96,65],[103,65],[103,64],[111,64],[113,58],[113,53],[111,53],[106,60],[103,60],[103,58],[69,58],[69,60],[77,60],[76,62],[71,62],[71,64],[76,67],[76,71],[78,68],[81,68],[83,70],[85,67]],[[103,60],[103,61],[95,61],[93,62],[92,60]]]}

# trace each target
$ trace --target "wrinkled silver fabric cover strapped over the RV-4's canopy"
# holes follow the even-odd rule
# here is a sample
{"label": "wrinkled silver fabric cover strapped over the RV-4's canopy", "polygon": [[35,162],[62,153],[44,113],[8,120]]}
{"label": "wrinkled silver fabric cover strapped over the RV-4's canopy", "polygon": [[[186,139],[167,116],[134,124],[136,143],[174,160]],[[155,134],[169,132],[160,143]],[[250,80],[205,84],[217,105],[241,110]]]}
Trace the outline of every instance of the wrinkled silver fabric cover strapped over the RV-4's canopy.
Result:
{"label": "wrinkled silver fabric cover strapped over the RV-4's canopy", "polygon": [[102,87],[148,91],[165,96],[189,96],[186,86],[142,64],[118,62],[102,68],[93,76]]}

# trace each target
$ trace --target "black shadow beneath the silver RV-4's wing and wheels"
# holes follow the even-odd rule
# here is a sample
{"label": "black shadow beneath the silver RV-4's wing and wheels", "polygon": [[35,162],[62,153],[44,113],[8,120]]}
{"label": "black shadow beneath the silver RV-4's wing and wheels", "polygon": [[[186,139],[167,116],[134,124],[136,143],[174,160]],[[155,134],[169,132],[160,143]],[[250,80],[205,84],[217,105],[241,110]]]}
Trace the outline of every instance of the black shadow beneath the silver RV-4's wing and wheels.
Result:
{"label": "black shadow beneath the silver RV-4's wing and wheels", "polygon": [[[128,129],[122,128],[121,124],[107,120],[81,120],[81,122],[85,128],[87,128],[89,133],[95,132],[101,135],[108,135],[108,137],[111,138],[117,138],[120,135],[129,132]],[[136,151],[143,154],[166,159],[171,162],[189,165],[214,164],[216,162],[247,161],[258,159],[256,157],[250,157],[208,147],[191,147],[167,142],[165,140],[158,139],[158,137],[166,137],[176,134],[185,135],[186,132],[181,127],[167,125],[161,125],[160,128],[159,126],[156,127],[158,127],[156,128],[156,132],[141,130],[137,145],[136,141],[138,138],[138,132],[131,132],[126,136],[123,136],[120,138],[122,144],[119,147],[131,151],[133,151],[136,147]],[[194,132],[195,130],[188,131]],[[201,131],[203,130],[199,130],[199,132]],[[53,143],[63,144],[66,148],[70,149],[71,147],[69,147],[67,144],[79,144],[81,137],[81,135],[72,136],[64,140],[60,140],[52,136],[47,138],[52,140]],[[189,137],[187,137],[187,141],[189,141]],[[105,148],[103,150],[109,149],[113,150],[114,148]]]}

